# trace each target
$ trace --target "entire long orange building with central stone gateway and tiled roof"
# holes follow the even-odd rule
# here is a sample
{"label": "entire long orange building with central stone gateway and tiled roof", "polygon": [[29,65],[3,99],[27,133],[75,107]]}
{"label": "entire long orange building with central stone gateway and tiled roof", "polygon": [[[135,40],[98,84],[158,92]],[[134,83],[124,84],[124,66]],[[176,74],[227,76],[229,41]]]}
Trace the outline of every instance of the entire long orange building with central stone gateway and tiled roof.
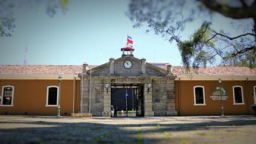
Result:
{"label": "entire long orange building with central stone gateway and tiled roof", "polygon": [[61,115],[110,116],[111,105],[137,116],[220,115],[221,104],[224,115],[254,114],[254,69],[199,67],[187,73],[126,50],[98,66],[0,65],[0,114],[57,115],[59,94]]}

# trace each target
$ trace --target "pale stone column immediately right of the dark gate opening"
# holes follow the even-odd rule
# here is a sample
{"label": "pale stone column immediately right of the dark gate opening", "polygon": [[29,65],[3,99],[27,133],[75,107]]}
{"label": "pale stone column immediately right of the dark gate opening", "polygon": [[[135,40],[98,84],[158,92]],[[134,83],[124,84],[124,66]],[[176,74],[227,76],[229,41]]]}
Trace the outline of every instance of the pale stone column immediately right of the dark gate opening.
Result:
{"label": "pale stone column immediately right of the dark gate opening", "polygon": [[[150,88],[148,87],[150,84]],[[154,117],[154,111],[152,110],[152,83],[144,84],[144,116]]]}

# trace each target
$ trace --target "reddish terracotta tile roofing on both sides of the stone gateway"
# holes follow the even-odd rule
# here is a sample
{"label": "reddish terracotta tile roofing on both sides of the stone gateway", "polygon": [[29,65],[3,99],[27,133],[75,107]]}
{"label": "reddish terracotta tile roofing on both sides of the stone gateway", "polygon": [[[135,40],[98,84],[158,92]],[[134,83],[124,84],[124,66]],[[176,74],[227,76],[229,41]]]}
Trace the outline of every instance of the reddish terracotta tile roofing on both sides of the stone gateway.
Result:
{"label": "reddish terracotta tile roofing on both sides of the stone gateway", "polygon": [[[166,70],[168,63],[151,63]],[[92,68],[97,67],[91,65]],[[90,67],[90,65],[89,65]],[[82,65],[0,65],[0,74],[79,74],[82,73]],[[186,75],[186,67],[173,66],[176,76]],[[256,76],[256,70],[248,67],[199,67],[193,70],[197,76]]]}

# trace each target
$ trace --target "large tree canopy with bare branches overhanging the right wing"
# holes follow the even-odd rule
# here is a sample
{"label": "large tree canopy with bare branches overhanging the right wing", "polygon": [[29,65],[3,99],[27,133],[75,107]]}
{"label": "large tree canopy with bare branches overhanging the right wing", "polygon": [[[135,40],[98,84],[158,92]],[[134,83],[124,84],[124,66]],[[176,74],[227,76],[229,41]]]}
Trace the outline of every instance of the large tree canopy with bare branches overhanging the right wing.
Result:
{"label": "large tree canopy with bare branches overhanging the right wing", "polygon": [[[189,67],[207,64],[256,67],[256,1],[214,1],[214,0],[131,0],[127,15],[141,27],[161,35],[169,42],[176,42],[182,56],[183,65]],[[241,35],[231,36],[225,30],[211,28],[212,19],[204,21],[193,30],[188,40],[181,40],[187,23],[199,16],[209,17],[218,13],[236,20],[252,20],[250,29]],[[149,32],[146,30],[146,32]],[[221,61],[217,61],[217,60]]]}

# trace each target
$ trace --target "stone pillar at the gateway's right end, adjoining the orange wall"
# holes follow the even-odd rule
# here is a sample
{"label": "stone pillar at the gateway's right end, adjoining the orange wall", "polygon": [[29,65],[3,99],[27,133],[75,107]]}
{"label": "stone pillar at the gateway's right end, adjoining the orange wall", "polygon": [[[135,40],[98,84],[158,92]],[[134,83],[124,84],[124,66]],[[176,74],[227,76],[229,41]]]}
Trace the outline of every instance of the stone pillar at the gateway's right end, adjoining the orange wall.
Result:
{"label": "stone pillar at the gateway's right end, adjoining the orange wall", "polygon": [[167,89],[166,115],[177,116],[177,111],[175,109],[175,88],[174,88],[174,79],[176,77],[170,76],[170,75],[168,76],[168,75],[166,77],[166,89]]}

